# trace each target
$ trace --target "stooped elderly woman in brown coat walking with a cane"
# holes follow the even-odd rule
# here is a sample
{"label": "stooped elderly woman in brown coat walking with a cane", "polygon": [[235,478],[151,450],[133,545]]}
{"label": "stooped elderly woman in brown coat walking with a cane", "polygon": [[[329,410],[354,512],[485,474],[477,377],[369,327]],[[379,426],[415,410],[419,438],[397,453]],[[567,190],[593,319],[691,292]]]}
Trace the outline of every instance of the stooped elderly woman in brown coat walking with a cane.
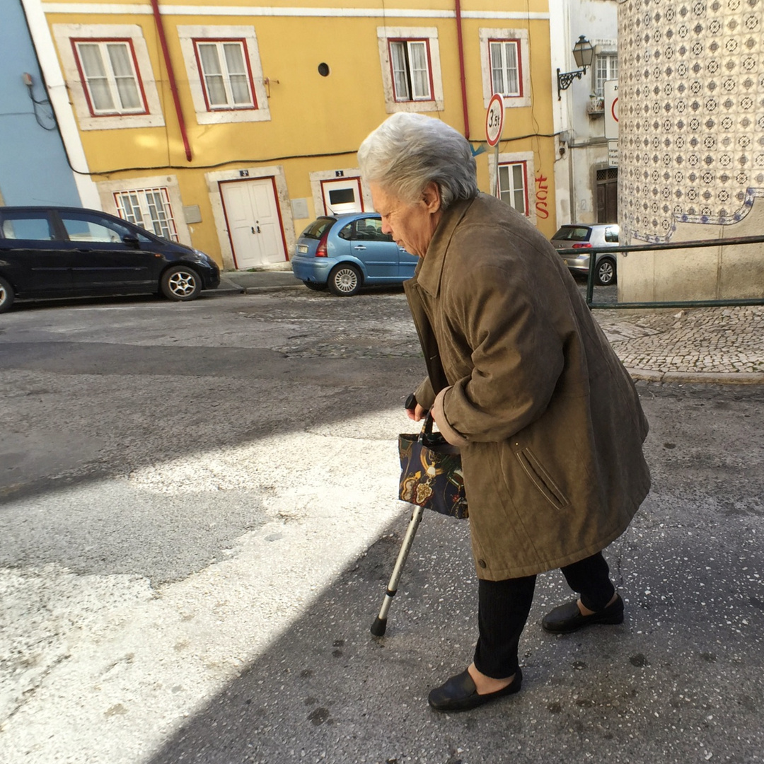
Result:
{"label": "stooped elderly woman in brown coat walking with a cane", "polygon": [[358,161],[383,230],[421,258],[405,289],[427,377],[409,416],[432,410],[461,448],[479,636],[474,661],[429,704],[463,711],[520,690],[536,574],[561,568],[578,593],[544,617],[545,630],[623,622],[601,551],[649,491],[648,426],[554,248],[478,193],[465,138],[437,119],[396,114]]}

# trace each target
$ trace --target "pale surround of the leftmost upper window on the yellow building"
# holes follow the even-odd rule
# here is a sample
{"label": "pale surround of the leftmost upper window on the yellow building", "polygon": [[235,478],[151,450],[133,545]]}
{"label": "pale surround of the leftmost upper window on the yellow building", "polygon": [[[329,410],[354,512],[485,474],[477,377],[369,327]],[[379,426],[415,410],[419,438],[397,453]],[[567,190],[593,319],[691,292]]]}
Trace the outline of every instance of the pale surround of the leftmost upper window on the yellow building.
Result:
{"label": "pale surround of the leftmost upper window on the yellow building", "polygon": [[[53,39],[61,58],[63,76],[66,78],[74,112],[80,130],[119,130],[121,128],[154,128],[164,125],[162,107],[151,67],[151,58],[138,24],[53,24]],[[104,112],[94,114],[90,108],[87,85],[73,47],[77,42],[107,42],[109,40],[129,40],[132,47],[132,62],[138,77],[139,90],[144,101],[144,109],[139,112]]]}

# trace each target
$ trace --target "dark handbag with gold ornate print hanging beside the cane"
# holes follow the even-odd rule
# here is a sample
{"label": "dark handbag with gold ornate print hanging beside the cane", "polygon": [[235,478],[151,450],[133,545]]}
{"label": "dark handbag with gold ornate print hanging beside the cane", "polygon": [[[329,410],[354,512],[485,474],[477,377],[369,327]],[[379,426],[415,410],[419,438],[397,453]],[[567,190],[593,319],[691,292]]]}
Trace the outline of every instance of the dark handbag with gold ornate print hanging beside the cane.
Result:
{"label": "dark handbag with gold ornate print hanging beside the cane", "polygon": [[459,449],[432,432],[432,415],[418,435],[398,435],[398,452],[400,500],[443,515],[468,516]]}

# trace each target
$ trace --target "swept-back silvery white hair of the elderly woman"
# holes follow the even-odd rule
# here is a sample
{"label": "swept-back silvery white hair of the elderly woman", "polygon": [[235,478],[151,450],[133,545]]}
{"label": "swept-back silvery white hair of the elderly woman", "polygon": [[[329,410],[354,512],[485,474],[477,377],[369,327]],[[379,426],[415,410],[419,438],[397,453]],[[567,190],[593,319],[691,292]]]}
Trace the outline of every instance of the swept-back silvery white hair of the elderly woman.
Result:
{"label": "swept-back silvery white hair of the elderly woman", "polygon": [[428,183],[440,189],[442,209],[478,196],[477,166],[467,139],[445,122],[399,112],[371,132],[358,149],[367,182],[403,202],[416,202]]}

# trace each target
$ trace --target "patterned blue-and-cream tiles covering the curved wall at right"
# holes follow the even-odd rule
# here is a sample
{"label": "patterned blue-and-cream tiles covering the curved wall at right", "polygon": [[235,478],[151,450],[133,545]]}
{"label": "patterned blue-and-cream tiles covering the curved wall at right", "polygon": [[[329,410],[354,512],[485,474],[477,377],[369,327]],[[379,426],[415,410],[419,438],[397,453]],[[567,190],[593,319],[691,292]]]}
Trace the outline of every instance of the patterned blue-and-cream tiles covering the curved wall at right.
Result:
{"label": "patterned blue-and-cream tiles covering the curved wall at right", "polygon": [[764,0],[621,3],[626,241],[670,241],[677,222],[733,225],[764,196],[762,34]]}

